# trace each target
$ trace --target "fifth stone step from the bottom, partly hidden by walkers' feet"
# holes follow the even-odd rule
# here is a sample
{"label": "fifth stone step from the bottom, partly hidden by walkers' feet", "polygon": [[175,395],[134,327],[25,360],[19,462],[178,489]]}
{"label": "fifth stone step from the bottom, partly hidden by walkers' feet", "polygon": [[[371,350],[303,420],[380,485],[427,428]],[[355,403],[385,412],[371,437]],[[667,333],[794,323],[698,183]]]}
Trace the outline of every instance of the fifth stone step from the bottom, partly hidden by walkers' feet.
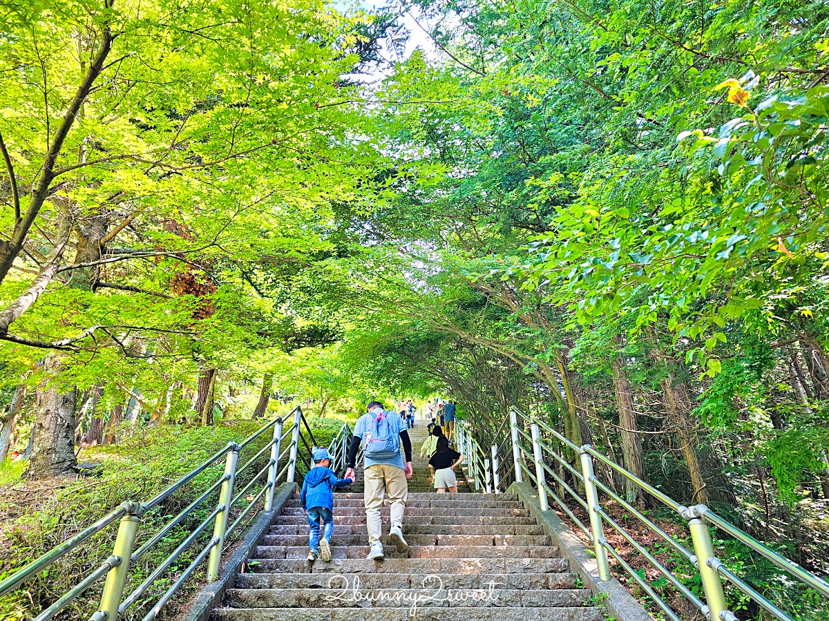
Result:
{"label": "fifth stone step from the bottom, partly hidden by walkers' feet", "polygon": [[[365,559],[368,546],[332,546],[332,558]],[[413,559],[550,559],[558,556],[555,546],[410,546],[406,553],[385,546],[385,556]],[[257,559],[304,559],[308,556],[308,544],[304,546],[257,546]]]}

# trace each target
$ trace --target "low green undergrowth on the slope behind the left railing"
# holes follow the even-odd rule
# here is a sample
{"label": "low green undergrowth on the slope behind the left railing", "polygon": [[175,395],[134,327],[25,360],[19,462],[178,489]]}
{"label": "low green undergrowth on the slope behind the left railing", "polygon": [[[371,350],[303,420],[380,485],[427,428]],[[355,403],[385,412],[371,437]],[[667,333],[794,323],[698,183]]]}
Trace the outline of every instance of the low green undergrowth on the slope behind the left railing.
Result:
{"label": "low green undergrowth on the slope behind the left railing", "polygon": [[[309,417],[308,423],[317,444],[327,444],[342,425],[340,420]],[[191,471],[228,442],[240,442],[253,434],[264,421],[231,420],[221,421],[211,427],[181,427],[163,425],[153,429],[136,429],[120,444],[99,446],[84,450],[79,461],[95,463],[86,476],[73,479],[51,479],[35,484],[20,480],[23,463],[0,471],[0,580],[11,575],[27,562],[36,559],[61,541],[74,536],[86,526],[112,512],[121,502],[133,500],[146,502],[156,493],[167,488],[178,478]],[[289,423],[286,421],[285,428]],[[240,467],[271,439],[265,432],[240,452]],[[288,439],[285,440],[286,442]],[[286,444],[283,444],[285,447]],[[300,443],[302,446],[302,443]],[[237,493],[269,459],[269,452],[256,460],[235,484]],[[279,463],[281,469],[285,458]],[[297,480],[302,481],[305,471],[298,464]],[[172,494],[162,504],[148,512],[141,522],[135,548],[142,546],[162,526],[170,522],[188,504],[201,496],[224,470],[224,459],[220,459],[193,479],[181,490]],[[255,497],[266,478],[251,488],[251,492],[233,508],[230,521]],[[208,497],[184,522],[163,537],[136,562],[129,572],[124,596],[131,593],[164,560],[183,539],[216,507],[218,492]],[[244,526],[253,519],[255,512],[237,528],[225,549],[240,540]],[[16,592],[0,599],[0,619],[20,621],[31,619],[51,605],[61,594],[71,589],[92,570],[101,565],[112,554],[118,522],[101,531],[82,544],[77,550],[56,561],[46,570],[28,580]],[[158,598],[172,585],[177,575],[187,568],[212,536],[212,525],[208,526],[196,542],[190,546],[170,568],[156,580],[138,602],[121,619],[133,621],[142,619]],[[204,580],[206,562],[202,562],[185,587],[177,594],[162,617],[170,618],[181,612],[198,585]],[[103,587],[103,580],[66,608],[56,619],[88,619],[95,611]]]}

